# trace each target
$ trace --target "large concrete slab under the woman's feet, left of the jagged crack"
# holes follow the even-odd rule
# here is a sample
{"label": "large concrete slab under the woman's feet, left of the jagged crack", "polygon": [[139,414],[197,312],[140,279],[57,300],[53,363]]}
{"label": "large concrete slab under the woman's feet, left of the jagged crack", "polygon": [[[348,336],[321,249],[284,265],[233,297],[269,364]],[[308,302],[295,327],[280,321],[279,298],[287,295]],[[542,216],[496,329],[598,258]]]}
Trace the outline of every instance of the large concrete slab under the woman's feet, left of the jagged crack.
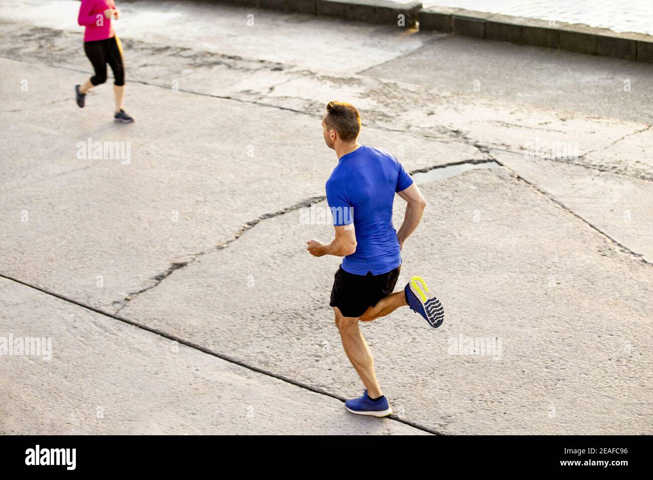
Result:
{"label": "large concrete slab under the woman's feet, left of the jagged crack", "polygon": [[[43,72],[57,91],[72,91],[80,76],[7,59],[0,65],[3,93],[26,98],[0,116],[7,132],[0,268],[8,276],[115,312],[170,265],[229,241],[253,219],[324,194],[333,163],[319,116],[133,84],[140,116],[114,125],[98,113],[111,104],[108,89],[82,110],[72,99],[47,105]],[[32,80],[27,92],[22,78]],[[170,114],[161,116],[161,104]],[[129,159],[89,159],[95,147],[78,158],[89,137],[121,142]],[[408,170],[486,157],[460,142],[372,127],[361,141],[396,152]]]}

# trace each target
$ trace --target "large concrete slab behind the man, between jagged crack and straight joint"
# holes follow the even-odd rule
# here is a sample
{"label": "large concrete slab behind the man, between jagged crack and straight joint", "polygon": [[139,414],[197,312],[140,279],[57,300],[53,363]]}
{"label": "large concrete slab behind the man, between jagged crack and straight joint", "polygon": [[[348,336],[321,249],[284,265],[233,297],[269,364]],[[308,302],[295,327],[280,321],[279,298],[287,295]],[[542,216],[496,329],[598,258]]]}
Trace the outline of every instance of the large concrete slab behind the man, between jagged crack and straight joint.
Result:
{"label": "large concrete slab behind the man, between jagged crack and straight joint", "polygon": [[[395,410],[445,434],[650,432],[650,266],[502,168],[422,191],[429,206],[406,244],[400,283],[424,276],[445,323],[432,330],[404,310],[362,326]],[[402,211],[398,200],[396,223]],[[356,394],[328,306],[338,259],[304,250],[331,230],[304,225],[300,212],[268,219],[121,315]],[[502,340],[501,358],[451,355],[461,335]]]}

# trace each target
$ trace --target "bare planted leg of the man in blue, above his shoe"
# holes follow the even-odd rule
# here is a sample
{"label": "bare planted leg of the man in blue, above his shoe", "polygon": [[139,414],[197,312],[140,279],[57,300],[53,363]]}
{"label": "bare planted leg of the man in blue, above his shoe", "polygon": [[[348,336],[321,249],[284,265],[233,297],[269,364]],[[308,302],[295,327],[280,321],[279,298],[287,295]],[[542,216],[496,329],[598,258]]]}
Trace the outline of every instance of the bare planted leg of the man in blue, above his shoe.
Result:
{"label": "bare planted leg of the man in blue, above his shoe", "polygon": [[376,374],[374,373],[372,352],[358,329],[358,318],[343,317],[338,307],[334,307],[333,310],[336,313],[336,325],[338,326],[338,330],[340,330],[342,346],[345,349],[345,353],[347,353],[347,357],[349,357],[349,361],[365,385],[368,396],[371,398],[382,396],[383,393],[381,392],[381,387],[379,387],[379,381],[377,381]]}

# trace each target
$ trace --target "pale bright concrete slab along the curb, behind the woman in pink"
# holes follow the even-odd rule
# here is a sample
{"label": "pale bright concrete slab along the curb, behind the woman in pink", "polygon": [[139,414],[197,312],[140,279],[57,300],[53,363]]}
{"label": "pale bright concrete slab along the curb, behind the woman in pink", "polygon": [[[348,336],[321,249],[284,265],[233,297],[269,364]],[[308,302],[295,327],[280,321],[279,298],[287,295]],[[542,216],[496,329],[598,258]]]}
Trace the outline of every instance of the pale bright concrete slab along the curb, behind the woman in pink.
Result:
{"label": "pale bright concrete slab along the curb, behind the woman in pink", "polygon": [[[33,3],[48,5],[46,0]],[[57,14],[44,16],[39,13],[39,8],[3,1],[0,16],[14,22],[38,24],[79,35],[82,32],[76,22],[79,3],[65,0],[57,5]],[[367,69],[379,61],[417,50],[426,42],[442,36],[437,33],[417,36],[417,31],[411,29],[364,23],[352,25],[338,18],[316,18],[242,5],[130,1],[121,4],[120,8],[123,16],[119,20],[119,29],[129,32],[133,39],[230,56],[281,61],[328,72],[351,73]],[[219,8],[219,15],[214,14],[216,8]],[[189,18],[193,19],[190,29]],[[302,41],[296,41],[297,38]],[[348,53],[346,63],[340,55],[334,55],[338,51]]]}

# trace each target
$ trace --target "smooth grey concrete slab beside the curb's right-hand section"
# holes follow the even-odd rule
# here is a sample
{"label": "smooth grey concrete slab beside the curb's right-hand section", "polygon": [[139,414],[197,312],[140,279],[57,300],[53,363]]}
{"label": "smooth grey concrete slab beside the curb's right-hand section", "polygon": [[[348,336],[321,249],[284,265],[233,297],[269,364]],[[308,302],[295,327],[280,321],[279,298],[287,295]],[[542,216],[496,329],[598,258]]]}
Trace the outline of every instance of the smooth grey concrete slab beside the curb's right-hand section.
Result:
{"label": "smooth grey concrete slab beside the curb's right-hand section", "polygon": [[623,59],[454,35],[364,74],[524,106],[653,120],[653,65]]}

